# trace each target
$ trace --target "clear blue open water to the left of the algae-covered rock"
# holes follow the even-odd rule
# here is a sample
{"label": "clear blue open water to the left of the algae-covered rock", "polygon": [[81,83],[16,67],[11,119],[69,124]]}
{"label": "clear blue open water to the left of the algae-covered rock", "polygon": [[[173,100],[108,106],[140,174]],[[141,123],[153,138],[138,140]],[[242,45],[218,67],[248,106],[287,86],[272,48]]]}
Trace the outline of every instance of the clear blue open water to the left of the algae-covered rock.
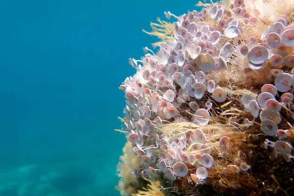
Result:
{"label": "clear blue open water to the left of the algae-covered rock", "polygon": [[0,196],[113,196],[118,87],[177,0],[0,0]]}

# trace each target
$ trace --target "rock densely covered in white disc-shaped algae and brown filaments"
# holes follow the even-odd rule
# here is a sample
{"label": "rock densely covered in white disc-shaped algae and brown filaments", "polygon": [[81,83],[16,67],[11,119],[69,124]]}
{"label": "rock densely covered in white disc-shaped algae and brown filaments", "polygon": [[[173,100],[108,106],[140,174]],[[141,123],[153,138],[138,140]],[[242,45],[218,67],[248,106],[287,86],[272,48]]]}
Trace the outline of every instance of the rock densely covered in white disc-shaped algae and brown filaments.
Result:
{"label": "rock densely covered in white disc-shaped algae and brown filaments", "polygon": [[165,12],[120,86],[128,196],[294,193],[294,0]]}

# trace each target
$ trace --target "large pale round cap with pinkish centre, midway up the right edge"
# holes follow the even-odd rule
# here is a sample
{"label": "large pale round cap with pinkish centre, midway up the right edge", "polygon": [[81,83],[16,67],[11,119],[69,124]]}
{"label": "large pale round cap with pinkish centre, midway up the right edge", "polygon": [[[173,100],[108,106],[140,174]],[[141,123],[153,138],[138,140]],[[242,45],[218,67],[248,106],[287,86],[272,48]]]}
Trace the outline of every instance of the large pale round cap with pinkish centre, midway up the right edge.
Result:
{"label": "large pale round cap with pinkish centre, midway up the right edge", "polygon": [[278,91],[285,93],[291,89],[294,78],[289,73],[281,73],[275,78],[274,84]]}

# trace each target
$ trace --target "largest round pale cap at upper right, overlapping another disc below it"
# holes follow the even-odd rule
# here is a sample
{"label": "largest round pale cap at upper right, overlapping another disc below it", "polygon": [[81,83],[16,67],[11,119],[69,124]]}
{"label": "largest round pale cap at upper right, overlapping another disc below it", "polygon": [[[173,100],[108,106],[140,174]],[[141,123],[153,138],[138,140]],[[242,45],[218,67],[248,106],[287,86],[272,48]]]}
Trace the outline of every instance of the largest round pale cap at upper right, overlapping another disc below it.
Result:
{"label": "largest round pale cap at upper right, overlapping another disc below it", "polygon": [[247,54],[248,60],[255,65],[264,63],[268,57],[269,51],[263,46],[255,46]]}

